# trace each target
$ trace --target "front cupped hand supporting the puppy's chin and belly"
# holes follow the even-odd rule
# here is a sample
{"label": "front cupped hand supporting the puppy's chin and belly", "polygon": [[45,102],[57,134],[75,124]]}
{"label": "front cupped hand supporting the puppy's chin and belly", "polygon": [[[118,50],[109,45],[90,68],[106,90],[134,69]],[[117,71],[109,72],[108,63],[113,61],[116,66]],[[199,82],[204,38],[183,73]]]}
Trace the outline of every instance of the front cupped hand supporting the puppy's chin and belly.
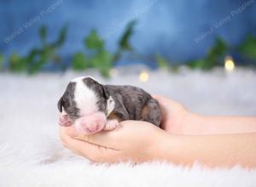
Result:
{"label": "front cupped hand supporting the puppy's chin and belly", "polygon": [[120,122],[112,131],[90,135],[79,133],[73,126],[60,127],[61,142],[67,149],[90,161],[108,163],[154,160],[163,133],[151,123],[138,121]]}

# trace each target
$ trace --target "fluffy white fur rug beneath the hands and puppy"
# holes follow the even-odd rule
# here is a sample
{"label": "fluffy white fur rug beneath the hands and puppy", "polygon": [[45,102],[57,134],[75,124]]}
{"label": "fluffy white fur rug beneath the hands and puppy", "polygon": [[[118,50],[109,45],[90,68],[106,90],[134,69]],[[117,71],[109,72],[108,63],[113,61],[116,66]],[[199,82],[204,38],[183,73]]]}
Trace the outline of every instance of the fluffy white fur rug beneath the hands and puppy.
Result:
{"label": "fluffy white fur rug beneath the hands and puppy", "polygon": [[[148,82],[138,82],[141,69],[144,67],[119,69],[119,75],[108,83],[132,84],[151,94],[165,94],[204,114],[256,115],[256,71],[154,71]],[[0,75],[1,187],[256,186],[256,170],[239,166],[186,168],[156,162],[107,166],[73,155],[58,139],[56,104],[67,82],[81,75],[99,78],[95,71]]]}

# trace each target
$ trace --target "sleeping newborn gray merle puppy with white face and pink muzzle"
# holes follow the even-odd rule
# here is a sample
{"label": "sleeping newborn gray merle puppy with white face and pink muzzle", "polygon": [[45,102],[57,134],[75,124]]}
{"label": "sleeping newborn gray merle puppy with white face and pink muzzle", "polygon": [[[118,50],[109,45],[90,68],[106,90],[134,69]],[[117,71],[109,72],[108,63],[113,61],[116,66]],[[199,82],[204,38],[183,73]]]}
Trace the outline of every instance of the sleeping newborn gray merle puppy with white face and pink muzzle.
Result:
{"label": "sleeping newborn gray merle puppy with white face and pink muzzle", "polygon": [[92,77],[78,77],[67,85],[58,102],[60,125],[72,124],[84,134],[112,130],[125,120],[160,126],[158,102],[142,88],[102,85]]}

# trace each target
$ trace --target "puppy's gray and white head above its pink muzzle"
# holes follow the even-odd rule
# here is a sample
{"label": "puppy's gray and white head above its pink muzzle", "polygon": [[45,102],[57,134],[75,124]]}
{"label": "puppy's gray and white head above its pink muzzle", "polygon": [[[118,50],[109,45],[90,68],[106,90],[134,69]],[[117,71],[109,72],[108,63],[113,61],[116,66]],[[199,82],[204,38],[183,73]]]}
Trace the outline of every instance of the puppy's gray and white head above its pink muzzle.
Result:
{"label": "puppy's gray and white head above its pink muzzle", "polygon": [[113,106],[108,105],[113,105],[113,102],[108,102],[109,100],[112,98],[104,85],[92,77],[78,77],[68,83],[65,93],[58,102],[58,109],[73,121],[96,111],[108,116],[110,110],[113,110]]}

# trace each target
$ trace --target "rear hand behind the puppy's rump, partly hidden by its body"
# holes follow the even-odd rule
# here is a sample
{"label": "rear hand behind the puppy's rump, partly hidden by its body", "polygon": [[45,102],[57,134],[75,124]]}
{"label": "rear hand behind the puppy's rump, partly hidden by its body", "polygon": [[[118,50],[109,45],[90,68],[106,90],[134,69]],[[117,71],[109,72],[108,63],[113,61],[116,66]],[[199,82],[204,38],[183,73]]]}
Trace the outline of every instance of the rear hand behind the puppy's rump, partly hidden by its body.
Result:
{"label": "rear hand behind the puppy's rump, partly hidden by its body", "polygon": [[161,128],[168,133],[183,134],[184,118],[190,114],[183,105],[175,100],[166,98],[161,95],[154,95],[161,108],[162,122]]}

